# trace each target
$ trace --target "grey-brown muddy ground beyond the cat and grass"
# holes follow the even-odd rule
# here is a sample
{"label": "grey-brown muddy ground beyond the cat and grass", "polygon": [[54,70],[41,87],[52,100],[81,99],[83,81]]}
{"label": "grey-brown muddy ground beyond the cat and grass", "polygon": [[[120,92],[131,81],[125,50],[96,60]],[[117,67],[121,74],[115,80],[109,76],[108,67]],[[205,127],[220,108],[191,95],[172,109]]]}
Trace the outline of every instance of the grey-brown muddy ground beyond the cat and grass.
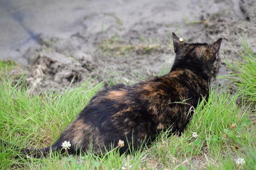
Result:
{"label": "grey-brown muddy ground beyond the cat and grass", "polygon": [[[241,38],[256,52],[255,0],[26,2],[0,3],[0,57],[19,64],[13,73],[26,74],[32,91],[166,73],[172,32],[189,43],[223,38],[223,60],[239,59]],[[227,74],[224,62],[220,74]]]}

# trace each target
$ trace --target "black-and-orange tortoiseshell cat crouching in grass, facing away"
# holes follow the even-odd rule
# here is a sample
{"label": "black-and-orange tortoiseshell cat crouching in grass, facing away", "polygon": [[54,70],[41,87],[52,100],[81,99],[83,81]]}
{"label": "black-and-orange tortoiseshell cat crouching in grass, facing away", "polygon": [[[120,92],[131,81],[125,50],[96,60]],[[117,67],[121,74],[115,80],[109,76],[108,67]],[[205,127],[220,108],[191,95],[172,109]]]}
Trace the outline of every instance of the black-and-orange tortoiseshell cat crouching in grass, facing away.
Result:
{"label": "black-and-orange tortoiseshell cat crouching in grass, facing away", "polygon": [[[120,153],[132,145],[136,150],[143,142],[156,139],[159,132],[172,127],[182,132],[202,97],[209,95],[209,83],[216,78],[220,65],[218,55],[221,38],[212,45],[184,43],[173,33],[175,62],[170,73],[141,81],[135,85],[114,85],[98,92],[76,120],[48,148],[22,149],[34,157],[52,150],[62,150],[63,141],[70,141],[69,153],[95,153],[120,147]],[[186,100],[187,104],[179,104]],[[124,141],[124,143],[123,143]],[[118,143],[119,142],[119,143]]]}

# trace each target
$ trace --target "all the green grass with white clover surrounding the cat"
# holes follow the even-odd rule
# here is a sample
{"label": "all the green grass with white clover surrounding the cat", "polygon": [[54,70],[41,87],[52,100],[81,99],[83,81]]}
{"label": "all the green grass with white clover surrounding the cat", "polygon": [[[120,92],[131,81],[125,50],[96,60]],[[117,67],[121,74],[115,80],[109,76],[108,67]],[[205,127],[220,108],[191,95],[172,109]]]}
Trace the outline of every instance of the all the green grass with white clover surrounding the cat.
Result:
{"label": "all the green grass with white clover surrounding the cat", "polygon": [[[12,146],[1,145],[0,168],[256,169],[256,56],[246,43],[243,46],[242,60],[229,64],[233,72],[228,78],[236,88],[212,89],[209,101],[198,104],[182,136],[163,132],[148,148],[131,155],[111,150],[101,157],[92,153],[79,157],[54,153],[46,159],[14,159],[19,153]],[[7,67],[6,63],[0,66],[2,72]],[[61,93],[31,95],[22,78],[14,81],[2,75],[1,139],[20,148],[49,146],[102,86],[103,83],[87,81]],[[236,164],[239,158],[244,164]]]}

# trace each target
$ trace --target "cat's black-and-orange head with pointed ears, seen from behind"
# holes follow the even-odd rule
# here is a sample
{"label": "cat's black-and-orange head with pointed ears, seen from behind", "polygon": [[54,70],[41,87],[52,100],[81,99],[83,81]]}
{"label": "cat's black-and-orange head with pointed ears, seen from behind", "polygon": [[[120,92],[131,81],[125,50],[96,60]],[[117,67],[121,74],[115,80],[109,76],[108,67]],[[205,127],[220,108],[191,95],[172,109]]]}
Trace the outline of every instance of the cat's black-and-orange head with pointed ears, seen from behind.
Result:
{"label": "cat's black-and-orange head with pointed ears, seen from behind", "polygon": [[214,80],[220,67],[219,50],[222,38],[212,44],[185,43],[182,38],[172,34],[176,53],[173,69],[192,69],[209,81]]}

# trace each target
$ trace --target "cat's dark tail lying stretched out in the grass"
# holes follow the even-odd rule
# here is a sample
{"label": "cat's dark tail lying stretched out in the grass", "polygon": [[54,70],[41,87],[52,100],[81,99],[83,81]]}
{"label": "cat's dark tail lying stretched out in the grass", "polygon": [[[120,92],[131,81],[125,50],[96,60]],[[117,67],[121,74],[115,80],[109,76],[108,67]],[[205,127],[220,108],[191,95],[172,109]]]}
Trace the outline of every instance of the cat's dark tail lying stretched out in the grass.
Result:
{"label": "cat's dark tail lying stretched out in the grass", "polygon": [[[65,150],[62,149],[61,146],[56,145],[56,143],[52,146],[47,148],[39,148],[39,149],[29,149],[29,148],[22,148],[12,145],[10,143],[6,143],[5,141],[0,139],[0,144],[4,146],[4,148],[12,147],[16,152],[20,152],[21,154],[17,157],[33,157],[33,158],[44,158],[48,157],[51,152],[61,152],[65,153]],[[1,149],[0,149],[1,150]]]}

